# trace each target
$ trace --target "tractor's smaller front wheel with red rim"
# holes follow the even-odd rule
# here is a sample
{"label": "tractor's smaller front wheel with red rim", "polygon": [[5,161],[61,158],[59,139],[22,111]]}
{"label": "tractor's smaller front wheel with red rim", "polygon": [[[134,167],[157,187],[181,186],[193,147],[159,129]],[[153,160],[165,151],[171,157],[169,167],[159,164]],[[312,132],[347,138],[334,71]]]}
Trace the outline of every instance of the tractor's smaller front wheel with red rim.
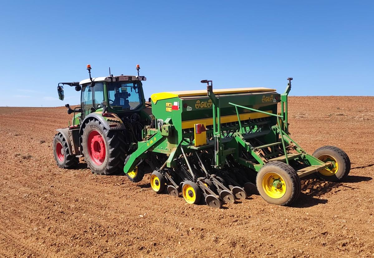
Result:
{"label": "tractor's smaller front wheel with red rim", "polygon": [[79,159],[70,154],[68,144],[61,133],[53,138],[53,155],[60,168],[73,168],[79,163]]}

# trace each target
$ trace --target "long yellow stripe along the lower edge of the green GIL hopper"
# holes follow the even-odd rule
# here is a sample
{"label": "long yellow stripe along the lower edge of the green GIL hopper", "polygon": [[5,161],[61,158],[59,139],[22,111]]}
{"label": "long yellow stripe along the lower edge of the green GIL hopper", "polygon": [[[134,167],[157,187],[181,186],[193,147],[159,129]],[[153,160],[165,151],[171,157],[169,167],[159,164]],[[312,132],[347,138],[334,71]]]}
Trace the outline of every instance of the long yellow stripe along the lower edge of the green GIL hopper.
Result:
{"label": "long yellow stripe along the lower edge of the green GIL hopper", "polygon": [[[272,113],[271,110],[267,110],[266,112]],[[243,120],[248,120],[248,119],[263,118],[263,117],[267,117],[270,115],[266,115],[266,114],[262,114],[258,112],[252,112],[252,113],[239,114],[239,116],[240,116],[240,120],[243,121]],[[235,122],[235,121],[237,121],[237,115],[221,116],[221,124]],[[207,125],[213,124],[213,118],[209,117],[209,118],[182,121],[182,129],[194,128],[195,124],[204,124],[206,128]]]}

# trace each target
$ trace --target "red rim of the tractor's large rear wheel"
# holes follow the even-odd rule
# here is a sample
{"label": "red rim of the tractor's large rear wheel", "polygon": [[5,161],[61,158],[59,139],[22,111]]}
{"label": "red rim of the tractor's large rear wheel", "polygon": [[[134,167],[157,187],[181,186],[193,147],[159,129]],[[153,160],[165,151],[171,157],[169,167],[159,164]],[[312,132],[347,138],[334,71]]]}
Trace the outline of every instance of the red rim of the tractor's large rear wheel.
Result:
{"label": "red rim of the tractor's large rear wheel", "polygon": [[101,165],[105,160],[105,142],[98,131],[91,131],[87,140],[88,154],[96,165]]}

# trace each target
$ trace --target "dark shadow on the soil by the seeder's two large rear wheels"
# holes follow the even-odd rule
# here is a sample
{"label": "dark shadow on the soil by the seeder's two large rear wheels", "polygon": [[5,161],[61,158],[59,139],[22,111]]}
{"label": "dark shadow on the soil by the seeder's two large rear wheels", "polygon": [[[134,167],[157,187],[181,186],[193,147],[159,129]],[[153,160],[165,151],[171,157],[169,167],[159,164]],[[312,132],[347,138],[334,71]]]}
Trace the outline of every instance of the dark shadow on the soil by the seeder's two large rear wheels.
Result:
{"label": "dark shadow on the soil by the seeder's two large rear wheels", "polygon": [[358,175],[347,175],[342,181],[338,183],[324,181],[313,175],[303,178],[301,181],[301,193],[299,198],[291,205],[294,208],[307,208],[318,204],[325,204],[327,199],[322,199],[321,196],[329,192],[339,192],[339,187],[345,187],[346,190],[357,189],[356,187],[344,185],[344,183],[359,183],[362,181],[370,181],[372,177],[363,177]]}

